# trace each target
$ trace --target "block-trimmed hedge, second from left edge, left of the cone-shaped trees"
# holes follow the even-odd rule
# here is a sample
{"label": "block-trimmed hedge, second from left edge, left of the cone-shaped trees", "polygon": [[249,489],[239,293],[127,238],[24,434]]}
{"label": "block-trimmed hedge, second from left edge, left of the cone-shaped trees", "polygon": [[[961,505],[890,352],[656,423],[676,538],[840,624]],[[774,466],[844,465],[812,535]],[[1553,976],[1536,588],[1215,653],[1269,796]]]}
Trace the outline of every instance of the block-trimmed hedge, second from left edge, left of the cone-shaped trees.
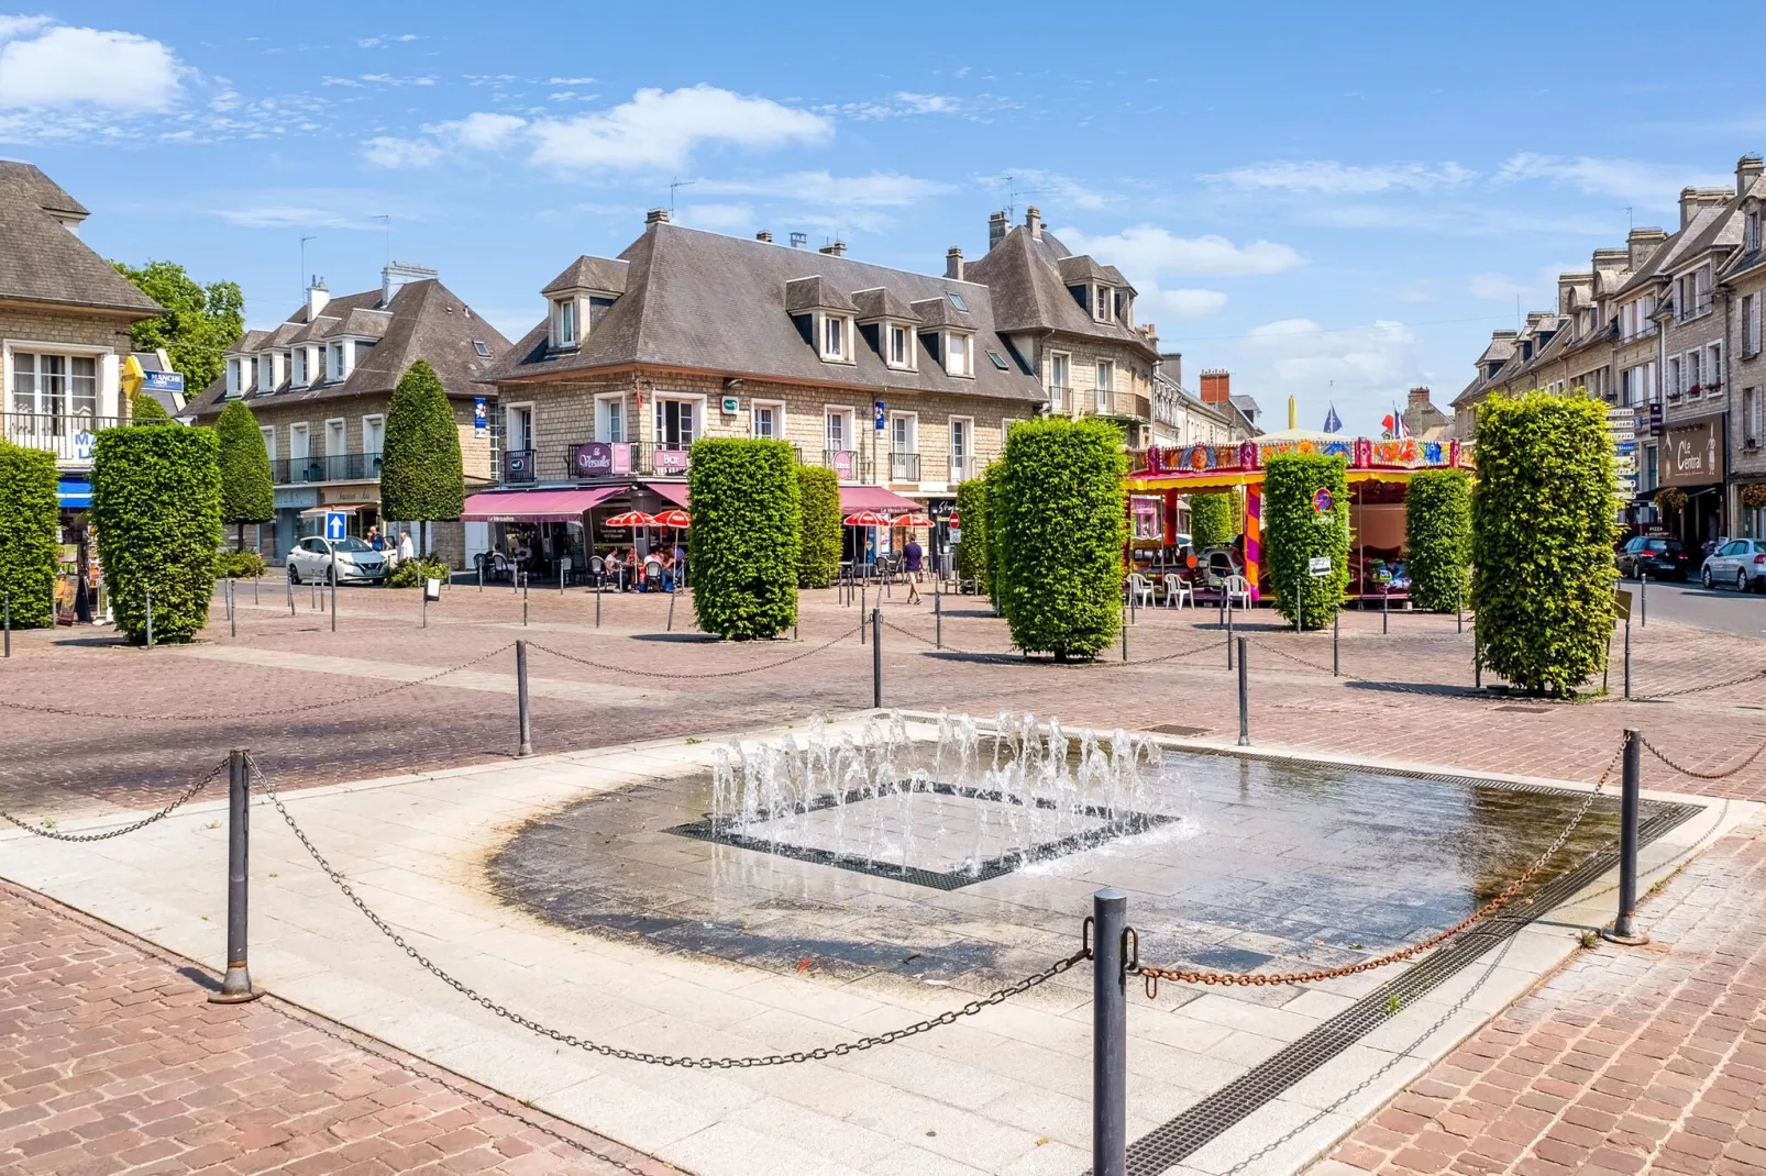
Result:
{"label": "block-trimmed hedge, second from left edge, left of the cone-shaped trees", "polygon": [[189,641],[208,622],[221,530],[214,429],[104,429],[92,454],[92,524],[111,614],[129,641]]}

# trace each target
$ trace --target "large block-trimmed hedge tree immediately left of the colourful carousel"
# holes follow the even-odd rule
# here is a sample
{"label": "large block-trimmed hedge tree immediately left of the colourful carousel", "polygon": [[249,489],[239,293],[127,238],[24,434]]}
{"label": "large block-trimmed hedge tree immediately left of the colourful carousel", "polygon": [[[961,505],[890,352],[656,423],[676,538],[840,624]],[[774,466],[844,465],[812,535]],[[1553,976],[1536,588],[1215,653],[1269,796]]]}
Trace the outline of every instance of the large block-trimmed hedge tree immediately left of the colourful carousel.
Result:
{"label": "large block-trimmed hedge tree immediately left of the colourful carousel", "polygon": [[1095,657],[1121,630],[1127,464],[1121,431],[1097,418],[1026,420],[1007,438],[987,521],[1000,611],[1021,650]]}

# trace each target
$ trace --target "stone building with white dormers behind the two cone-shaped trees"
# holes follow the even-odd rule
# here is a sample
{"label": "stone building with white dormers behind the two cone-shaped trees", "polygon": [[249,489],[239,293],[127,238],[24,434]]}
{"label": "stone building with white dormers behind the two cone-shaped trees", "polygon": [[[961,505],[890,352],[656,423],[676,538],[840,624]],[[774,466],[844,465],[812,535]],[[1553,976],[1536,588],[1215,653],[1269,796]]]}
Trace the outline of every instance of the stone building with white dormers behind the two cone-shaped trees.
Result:
{"label": "stone building with white dormers behind the two cone-shaped trees", "polygon": [[[380,516],[380,450],[392,388],[417,360],[436,369],[454,406],[466,493],[491,486],[494,392],[475,380],[507,348],[434,270],[394,263],[378,290],[332,297],[314,281],[306,304],[279,327],[249,330],[228,350],[226,373],[189,415],[214,424],[228,401],[251,406],[275,484],[275,521],[256,528],[256,547],[279,560],[304,535],[320,533],[327,512],[344,512],[351,535],[397,523]],[[482,526],[436,523],[429,535],[454,567],[486,544]]]}

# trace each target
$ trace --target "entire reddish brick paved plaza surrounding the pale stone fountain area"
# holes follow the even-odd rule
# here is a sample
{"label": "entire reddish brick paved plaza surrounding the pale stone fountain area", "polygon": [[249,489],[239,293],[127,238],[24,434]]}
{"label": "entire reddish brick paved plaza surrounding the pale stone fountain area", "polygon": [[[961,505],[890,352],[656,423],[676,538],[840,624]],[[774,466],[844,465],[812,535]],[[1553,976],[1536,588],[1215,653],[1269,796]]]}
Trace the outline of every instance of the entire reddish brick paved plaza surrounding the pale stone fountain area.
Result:
{"label": "entire reddish brick paved plaza surrounding the pale stone fountain area", "polygon": [[[14,705],[0,708],[0,809],[58,823],[152,809],[228,747],[251,747],[284,789],[496,763],[516,745],[507,646],[517,637],[535,645],[542,754],[871,705],[858,609],[834,593],[805,593],[800,643],[758,646],[705,643],[685,600],[664,632],[662,597],[604,599],[599,630],[583,592],[533,592],[526,629],[507,586],[447,590],[427,629],[410,592],[341,592],[336,632],[306,590],[293,616],[281,584],[267,583],[258,604],[247,586],[240,600],[238,637],[215,611],[187,648],[127,650],[102,630],[18,634],[4,667]],[[1113,652],[1058,667],[1007,653],[985,606],[947,604],[950,648],[934,652],[931,600],[908,606],[899,590],[885,600],[885,705],[1236,735],[1213,613],[1143,611],[1130,664]],[[1328,673],[1328,634],[1296,637],[1268,622],[1240,632],[1252,637],[1261,745],[1591,780],[1625,726],[1699,770],[1766,738],[1766,678],[1718,685],[1766,666],[1754,637],[1655,622],[1632,634],[1639,701],[1556,705],[1473,694],[1471,632],[1455,632],[1452,616],[1393,614],[1383,634],[1377,614],[1346,614],[1342,680]],[[751,667],[765,669],[729,675]],[[336,699],[350,701],[327,705]],[[1757,800],[1766,766],[1699,780],[1646,758],[1644,786]],[[1662,883],[1641,913],[1649,946],[1575,955],[1316,1171],[1759,1171],[1766,856],[1755,837],[1747,826],[1681,872],[1646,879]],[[459,1093],[470,1084],[397,1051],[367,1052],[311,1014],[274,999],[223,1008],[205,994],[187,962],[0,892],[0,1171],[615,1171],[544,1130],[641,1167],[567,1123],[494,1097],[475,1102]]]}

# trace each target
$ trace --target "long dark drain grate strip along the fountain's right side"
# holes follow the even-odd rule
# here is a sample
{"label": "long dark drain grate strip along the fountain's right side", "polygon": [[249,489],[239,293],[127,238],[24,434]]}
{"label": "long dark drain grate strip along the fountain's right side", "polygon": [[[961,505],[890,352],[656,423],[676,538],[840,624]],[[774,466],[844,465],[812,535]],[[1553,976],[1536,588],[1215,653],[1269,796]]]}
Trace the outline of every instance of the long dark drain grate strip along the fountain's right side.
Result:
{"label": "long dark drain grate strip along the fountain's right side", "polygon": [[[1648,800],[1644,807],[1655,809],[1637,830],[1637,839],[1644,846],[1702,810],[1699,805]],[[1618,853],[1598,853],[1577,869],[1545,883],[1529,899],[1519,902],[1551,909],[1575,895],[1577,890],[1596,881],[1616,863]],[[1390,1017],[1388,1010],[1393,999],[1399,1005],[1409,1005],[1416,998],[1438,989],[1453,973],[1503,943],[1503,939],[1517,934],[1529,922],[1533,920],[1510,916],[1480,923],[1427,955],[1420,964],[1379,985],[1335,1017],[1321,1022],[1310,1033],[1284,1045],[1240,1077],[1187,1107],[1174,1119],[1136,1139],[1128,1146],[1128,1174],[1157,1176],[1176,1167],[1210,1141],[1245,1121],[1259,1107],[1385,1024]]]}

